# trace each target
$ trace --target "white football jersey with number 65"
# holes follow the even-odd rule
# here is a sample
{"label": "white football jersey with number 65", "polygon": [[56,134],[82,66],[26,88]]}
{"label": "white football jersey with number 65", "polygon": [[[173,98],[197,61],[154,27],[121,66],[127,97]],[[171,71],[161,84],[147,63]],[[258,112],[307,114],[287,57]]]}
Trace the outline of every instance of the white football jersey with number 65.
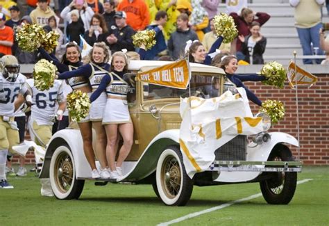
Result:
{"label": "white football jersey with number 65", "polygon": [[28,89],[32,93],[31,122],[35,120],[39,125],[53,124],[50,116],[56,112],[57,104],[64,100],[62,82],[55,80],[49,90],[40,91],[35,88],[33,79],[26,80]]}

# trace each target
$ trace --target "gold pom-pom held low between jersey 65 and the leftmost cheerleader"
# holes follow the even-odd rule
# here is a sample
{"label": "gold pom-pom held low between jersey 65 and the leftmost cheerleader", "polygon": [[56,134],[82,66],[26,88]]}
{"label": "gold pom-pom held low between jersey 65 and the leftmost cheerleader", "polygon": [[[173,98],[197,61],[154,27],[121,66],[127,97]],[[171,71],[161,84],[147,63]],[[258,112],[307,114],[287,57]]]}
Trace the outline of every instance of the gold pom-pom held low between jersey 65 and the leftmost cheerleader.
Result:
{"label": "gold pom-pom held low between jersey 65 and the leftmost cheerleader", "polygon": [[69,109],[71,119],[76,122],[87,117],[90,106],[90,99],[86,92],[74,90],[67,95],[67,109]]}

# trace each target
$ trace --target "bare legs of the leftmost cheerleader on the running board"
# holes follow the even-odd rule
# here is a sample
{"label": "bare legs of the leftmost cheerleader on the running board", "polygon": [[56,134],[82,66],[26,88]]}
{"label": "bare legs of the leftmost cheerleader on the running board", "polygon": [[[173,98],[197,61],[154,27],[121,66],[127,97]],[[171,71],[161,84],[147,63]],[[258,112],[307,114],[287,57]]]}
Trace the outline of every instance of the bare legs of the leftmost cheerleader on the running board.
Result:
{"label": "bare legs of the leftmost cheerleader on the running board", "polygon": [[96,170],[95,154],[92,148],[92,122],[79,122],[78,125],[83,138],[83,152],[85,152],[85,158],[90,168]]}

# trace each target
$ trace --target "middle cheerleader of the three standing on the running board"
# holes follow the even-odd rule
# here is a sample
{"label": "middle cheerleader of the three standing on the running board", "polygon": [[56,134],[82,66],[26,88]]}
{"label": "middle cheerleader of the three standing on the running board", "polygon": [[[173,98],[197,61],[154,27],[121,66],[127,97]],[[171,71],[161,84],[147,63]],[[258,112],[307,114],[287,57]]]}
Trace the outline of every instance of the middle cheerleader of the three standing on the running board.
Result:
{"label": "middle cheerleader of the three standing on the running board", "polygon": [[[101,82],[103,76],[109,75],[110,65],[107,63],[110,58],[110,50],[104,42],[96,42],[92,50],[90,51],[91,62],[78,67],[76,70],[71,70],[68,72],[63,72],[58,75],[58,79],[71,79],[74,77],[83,77],[89,79],[92,91],[96,90]],[[91,95],[91,92],[89,92]],[[103,109],[106,105],[106,93],[102,92],[100,97],[92,103],[90,108],[89,120],[92,123],[82,123],[81,133],[87,135],[88,143],[84,143],[85,155],[88,162],[92,166],[94,164],[94,152],[92,150],[92,127],[96,131],[96,155],[101,163],[101,172],[96,170],[96,166],[92,166],[92,177],[101,177],[107,179],[110,177],[110,172],[108,172],[108,163],[106,161],[106,131],[101,124],[103,119]],[[83,140],[85,137],[83,136]],[[89,161],[90,160],[90,161]]]}

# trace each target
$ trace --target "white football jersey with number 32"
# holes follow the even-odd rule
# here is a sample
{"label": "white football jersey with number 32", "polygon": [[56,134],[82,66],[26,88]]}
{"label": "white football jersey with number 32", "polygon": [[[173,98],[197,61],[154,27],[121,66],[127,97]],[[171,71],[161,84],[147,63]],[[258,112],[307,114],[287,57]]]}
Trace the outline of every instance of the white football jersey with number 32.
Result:
{"label": "white football jersey with number 32", "polygon": [[[22,93],[24,81],[16,79],[16,81],[7,81],[2,73],[0,73],[0,115],[14,116],[14,102],[19,93]],[[23,94],[23,93],[22,93]]]}

